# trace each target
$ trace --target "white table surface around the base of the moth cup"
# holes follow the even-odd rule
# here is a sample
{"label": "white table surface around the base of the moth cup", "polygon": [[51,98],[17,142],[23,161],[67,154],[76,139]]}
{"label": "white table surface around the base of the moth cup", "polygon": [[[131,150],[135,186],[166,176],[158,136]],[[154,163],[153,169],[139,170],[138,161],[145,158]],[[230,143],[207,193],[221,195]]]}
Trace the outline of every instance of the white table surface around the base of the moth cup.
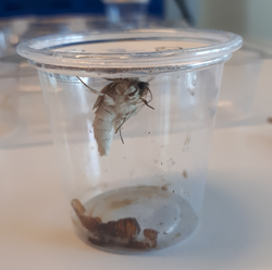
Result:
{"label": "white table surface around the base of the moth cup", "polygon": [[115,255],[84,244],[72,230],[52,145],[0,150],[0,269],[271,270],[269,83],[260,83],[250,122],[214,131],[200,225],[161,251]]}

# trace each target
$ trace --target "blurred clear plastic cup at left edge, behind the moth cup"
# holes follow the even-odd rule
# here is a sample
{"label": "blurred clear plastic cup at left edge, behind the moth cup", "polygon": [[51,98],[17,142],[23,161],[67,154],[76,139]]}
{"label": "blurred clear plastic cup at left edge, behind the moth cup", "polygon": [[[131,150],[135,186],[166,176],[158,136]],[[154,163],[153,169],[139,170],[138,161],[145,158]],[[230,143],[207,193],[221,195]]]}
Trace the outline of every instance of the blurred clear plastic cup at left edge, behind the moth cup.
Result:
{"label": "blurred clear plastic cup at left edge, behind the moth cup", "polygon": [[52,144],[37,70],[18,54],[0,68],[0,148]]}

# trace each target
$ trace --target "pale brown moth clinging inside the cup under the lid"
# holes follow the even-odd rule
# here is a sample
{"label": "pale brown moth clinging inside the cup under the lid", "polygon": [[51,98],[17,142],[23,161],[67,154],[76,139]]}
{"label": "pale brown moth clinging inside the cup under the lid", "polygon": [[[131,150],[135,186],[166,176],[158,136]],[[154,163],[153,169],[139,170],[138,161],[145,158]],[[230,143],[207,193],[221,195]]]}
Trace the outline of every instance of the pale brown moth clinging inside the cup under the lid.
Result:
{"label": "pale brown moth clinging inside the cup under the lid", "polygon": [[[108,156],[110,152],[114,133],[120,133],[124,123],[137,114],[144,106],[153,110],[149,102],[152,100],[152,93],[148,82],[141,82],[137,77],[132,78],[104,78],[111,83],[106,85],[101,91],[95,90],[77,77],[91,93],[98,95],[94,105],[96,116],[92,123],[95,139],[98,145],[98,152]],[[150,94],[150,100],[146,98]]]}

